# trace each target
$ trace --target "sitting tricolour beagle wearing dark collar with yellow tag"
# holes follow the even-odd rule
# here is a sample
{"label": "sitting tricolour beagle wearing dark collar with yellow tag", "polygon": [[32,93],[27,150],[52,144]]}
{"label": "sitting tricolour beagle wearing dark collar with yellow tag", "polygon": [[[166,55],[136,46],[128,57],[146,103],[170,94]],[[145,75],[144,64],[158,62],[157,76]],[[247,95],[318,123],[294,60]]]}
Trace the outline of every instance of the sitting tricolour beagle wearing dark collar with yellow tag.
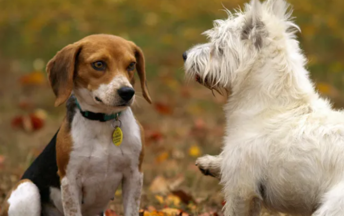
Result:
{"label": "sitting tricolour beagle wearing dark collar with yellow tag", "polygon": [[0,216],[99,216],[122,183],[124,216],[138,216],[143,128],[130,106],[134,70],[148,94],[142,50],[114,35],[90,35],[47,64],[57,133],[8,193]]}

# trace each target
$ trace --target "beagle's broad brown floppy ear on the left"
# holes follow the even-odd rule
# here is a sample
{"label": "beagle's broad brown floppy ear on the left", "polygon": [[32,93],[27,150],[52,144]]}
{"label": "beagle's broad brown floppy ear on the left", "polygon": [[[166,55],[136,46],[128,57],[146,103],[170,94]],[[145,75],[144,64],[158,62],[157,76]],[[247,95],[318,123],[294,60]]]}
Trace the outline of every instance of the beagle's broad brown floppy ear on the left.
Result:
{"label": "beagle's broad brown floppy ear on the left", "polygon": [[75,66],[80,51],[80,45],[68,45],[58,51],[47,64],[49,83],[56,96],[55,106],[64,103],[72,93]]}

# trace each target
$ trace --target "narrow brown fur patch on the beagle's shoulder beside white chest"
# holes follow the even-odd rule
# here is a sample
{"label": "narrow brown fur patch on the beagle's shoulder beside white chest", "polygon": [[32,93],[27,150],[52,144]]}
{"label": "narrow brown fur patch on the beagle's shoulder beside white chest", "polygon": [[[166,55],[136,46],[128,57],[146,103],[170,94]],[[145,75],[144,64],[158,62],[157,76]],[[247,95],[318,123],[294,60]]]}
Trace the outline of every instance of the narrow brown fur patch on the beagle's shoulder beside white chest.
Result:
{"label": "narrow brown fur patch on the beagle's shoulder beside white chest", "polygon": [[66,168],[69,162],[69,155],[72,150],[72,137],[70,134],[70,127],[65,118],[58,131],[56,139],[56,160],[57,160],[57,174],[62,179],[66,175]]}

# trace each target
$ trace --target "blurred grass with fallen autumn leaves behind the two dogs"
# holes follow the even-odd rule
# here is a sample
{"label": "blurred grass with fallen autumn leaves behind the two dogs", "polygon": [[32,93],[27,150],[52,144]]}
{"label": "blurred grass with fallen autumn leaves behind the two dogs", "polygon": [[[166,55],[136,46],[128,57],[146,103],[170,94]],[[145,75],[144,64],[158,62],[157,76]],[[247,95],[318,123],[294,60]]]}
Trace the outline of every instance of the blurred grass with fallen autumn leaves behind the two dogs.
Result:
{"label": "blurred grass with fallen autumn leaves behind the two dogs", "polygon": [[[64,107],[53,106],[45,64],[70,43],[89,34],[108,33],[134,41],[146,58],[154,104],[149,106],[139,99],[134,107],[146,130],[143,207],[163,206],[152,195],[166,195],[161,181],[179,181],[177,188],[203,203],[187,211],[220,212],[222,198],[217,181],[203,177],[194,161],[201,154],[219,153],[224,126],[221,105],[226,98],[214,97],[193,82],[185,83],[181,55],[191,46],[205,42],[201,32],[211,28],[213,20],[226,18],[221,11],[223,5],[233,9],[244,2],[0,0],[0,202],[49,142],[65,114]],[[312,79],[324,96],[342,107],[344,1],[289,2],[302,30],[298,38],[309,58]],[[23,81],[32,72],[43,74],[44,81]],[[28,132],[11,126],[14,117],[28,115],[37,108],[47,113],[43,128]],[[121,213],[118,203],[115,200],[110,207]]]}

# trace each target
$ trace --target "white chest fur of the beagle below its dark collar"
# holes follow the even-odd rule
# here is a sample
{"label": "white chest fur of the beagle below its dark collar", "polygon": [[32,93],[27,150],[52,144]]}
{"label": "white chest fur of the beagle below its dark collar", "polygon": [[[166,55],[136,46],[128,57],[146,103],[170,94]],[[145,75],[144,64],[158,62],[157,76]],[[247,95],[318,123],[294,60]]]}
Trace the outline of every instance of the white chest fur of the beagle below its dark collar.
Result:
{"label": "white chest fur of the beagle below its dark collar", "polygon": [[119,120],[123,141],[116,146],[112,142],[111,120],[87,120],[79,110],[73,119],[73,146],[66,177],[75,179],[83,216],[99,214],[115,195],[123,176],[138,169],[142,150],[140,127],[130,108],[121,113]]}

